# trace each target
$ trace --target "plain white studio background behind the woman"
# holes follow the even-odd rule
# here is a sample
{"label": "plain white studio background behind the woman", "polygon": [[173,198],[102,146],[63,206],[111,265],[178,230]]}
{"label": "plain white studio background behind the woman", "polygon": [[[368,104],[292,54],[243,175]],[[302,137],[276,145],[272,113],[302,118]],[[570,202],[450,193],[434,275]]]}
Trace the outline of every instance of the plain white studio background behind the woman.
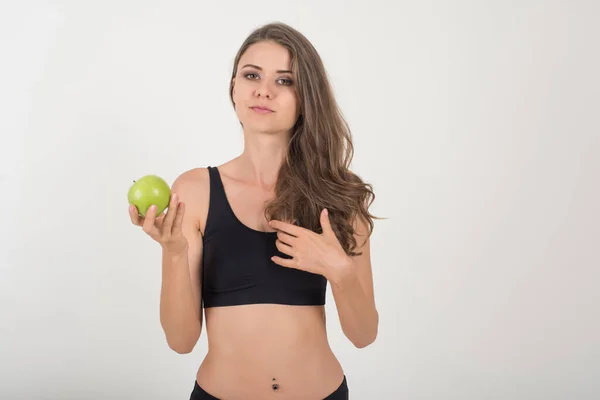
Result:
{"label": "plain white studio background behind the woman", "polygon": [[233,58],[322,55],[372,183],[377,341],[354,400],[600,397],[595,1],[3,1],[0,398],[187,399],[127,190],[242,149]]}

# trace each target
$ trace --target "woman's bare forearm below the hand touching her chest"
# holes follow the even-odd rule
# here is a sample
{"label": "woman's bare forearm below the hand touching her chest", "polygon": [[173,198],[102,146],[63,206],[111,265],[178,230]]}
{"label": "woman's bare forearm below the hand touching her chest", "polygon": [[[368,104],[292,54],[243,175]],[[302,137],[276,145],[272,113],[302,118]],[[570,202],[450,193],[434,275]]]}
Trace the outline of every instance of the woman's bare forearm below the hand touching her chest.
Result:
{"label": "woman's bare forearm below the hand touching her chest", "polygon": [[379,314],[354,268],[340,268],[329,279],[344,335],[358,348],[375,341]]}

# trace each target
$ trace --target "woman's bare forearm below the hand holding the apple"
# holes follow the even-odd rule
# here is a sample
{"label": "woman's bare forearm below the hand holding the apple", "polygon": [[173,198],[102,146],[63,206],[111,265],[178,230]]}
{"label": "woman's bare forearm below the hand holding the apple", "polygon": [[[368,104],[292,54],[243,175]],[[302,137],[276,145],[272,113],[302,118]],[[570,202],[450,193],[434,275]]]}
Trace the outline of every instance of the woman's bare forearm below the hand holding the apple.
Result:
{"label": "woman's bare forearm below the hand holding the apple", "polygon": [[187,250],[163,250],[160,323],[169,347],[179,353],[190,352],[200,337],[200,305],[192,291]]}

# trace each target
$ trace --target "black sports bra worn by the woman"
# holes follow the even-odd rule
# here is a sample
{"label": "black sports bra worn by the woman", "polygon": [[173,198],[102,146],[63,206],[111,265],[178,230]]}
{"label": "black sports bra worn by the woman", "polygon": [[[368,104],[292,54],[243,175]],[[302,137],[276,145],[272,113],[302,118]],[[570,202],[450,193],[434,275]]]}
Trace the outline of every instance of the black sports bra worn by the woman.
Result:
{"label": "black sports bra worn by the woman", "polygon": [[327,279],[275,264],[290,258],[275,246],[276,232],[244,225],[234,214],[217,167],[208,167],[210,202],[203,237],[204,308],[241,304],[324,305]]}

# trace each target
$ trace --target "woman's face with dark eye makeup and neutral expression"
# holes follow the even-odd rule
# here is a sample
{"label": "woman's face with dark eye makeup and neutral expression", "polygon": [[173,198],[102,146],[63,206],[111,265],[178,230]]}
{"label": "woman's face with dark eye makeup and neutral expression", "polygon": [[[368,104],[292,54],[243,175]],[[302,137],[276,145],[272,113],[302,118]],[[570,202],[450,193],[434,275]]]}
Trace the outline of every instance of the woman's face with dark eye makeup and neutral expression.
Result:
{"label": "woman's face with dark eye makeup and neutral expression", "polygon": [[298,119],[299,105],[288,50],[273,42],[255,43],[237,68],[233,101],[244,129],[289,132]]}

